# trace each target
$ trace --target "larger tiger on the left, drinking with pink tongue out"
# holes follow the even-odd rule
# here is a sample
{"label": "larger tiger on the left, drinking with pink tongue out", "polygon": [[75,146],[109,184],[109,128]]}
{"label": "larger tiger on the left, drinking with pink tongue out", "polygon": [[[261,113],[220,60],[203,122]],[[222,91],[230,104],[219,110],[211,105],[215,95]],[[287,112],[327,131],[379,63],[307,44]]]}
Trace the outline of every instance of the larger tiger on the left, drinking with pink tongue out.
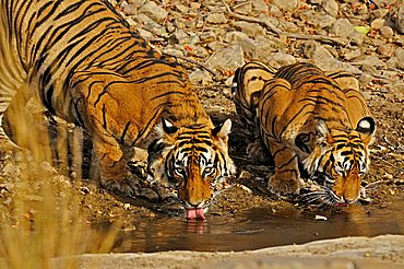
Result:
{"label": "larger tiger on the left, drinking with pink tongue out", "polygon": [[231,121],[213,124],[180,63],[107,0],[0,3],[0,119],[37,100],[90,133],[100,186],[129,197],[139,195],[139,178],[128,162],[144,149],[151,178],[174,189],[188,215],[204,218],[235,173]]}

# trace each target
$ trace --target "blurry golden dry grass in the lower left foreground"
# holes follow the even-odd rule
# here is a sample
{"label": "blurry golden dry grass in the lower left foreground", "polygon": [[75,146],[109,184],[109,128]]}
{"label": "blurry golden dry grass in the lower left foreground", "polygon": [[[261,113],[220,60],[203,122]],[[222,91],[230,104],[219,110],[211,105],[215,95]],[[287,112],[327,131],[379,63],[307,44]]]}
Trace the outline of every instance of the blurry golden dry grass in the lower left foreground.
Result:
{"label": "blurry golden dry grass in the lower left foreground", "polygon": [[71,179],[61,173],[63,169],[49,165],[55,153],[63,165],[68,164],[66,136],[59,137],[64,142],[57,143],[57,151],[51,150],[46,124],[33,127],[32,118],[26,116],[21,109],[8,115],[9,122],[19,122],[17,129],[9,126],[9,133],[12,131],[19,144],[29,148],[35,164],[24,163],[26,159],[15,162],[13,157],[1,163],[0,268],[76,268],[75,259],[58,259],[56,266],[52,258],[108,253],[119,229],[91,229]]}

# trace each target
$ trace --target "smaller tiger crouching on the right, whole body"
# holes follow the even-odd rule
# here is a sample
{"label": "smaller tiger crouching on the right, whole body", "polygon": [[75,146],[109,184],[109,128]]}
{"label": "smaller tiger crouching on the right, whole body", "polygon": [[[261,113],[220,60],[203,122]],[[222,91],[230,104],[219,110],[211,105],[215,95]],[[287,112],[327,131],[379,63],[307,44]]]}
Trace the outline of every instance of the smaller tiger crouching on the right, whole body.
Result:
{"label": "smaller tiger crouching on the right, whole body", "polygon": [[309,203],[358,201],[376,122],[354,75],[305,62],[275,69],[252,61],[236,70],[233,95],[252,136],[249,155],[264,153],[274,163],[271,192],[297,195],[309,178],[320,183],[305,197]]}

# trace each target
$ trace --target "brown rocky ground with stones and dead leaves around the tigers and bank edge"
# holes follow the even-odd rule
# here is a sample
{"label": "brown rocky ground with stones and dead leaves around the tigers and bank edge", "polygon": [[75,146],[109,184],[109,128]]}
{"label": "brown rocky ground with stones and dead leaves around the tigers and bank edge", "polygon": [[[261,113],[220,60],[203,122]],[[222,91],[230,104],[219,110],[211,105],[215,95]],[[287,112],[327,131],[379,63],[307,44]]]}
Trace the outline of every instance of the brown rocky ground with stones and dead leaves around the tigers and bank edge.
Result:
{"label": "brown rocky ground with stones and dead leaves around the tigers and bank edge", "polygon": [[[377,121],[371,147],[371,172],[365,177],[370,202],[385,207],[404,196],[404,4],[401,0],[174,0],[112,1],[133,31],[155,49],[176,57],[187,70],[202,103],[215,122],[231,118],[230,154],[238,172],[233,186],[219,196],[211,212],[231,218],[253,207],[295,207],[294,198],[268,192],[271,167],[246,157],[246,141],[230,96],[235,70],[259,60],[272,67],[313,62],[324,71],[346,70],[360,81]],[[72,131],[74,132],[74,131]],[[85,145],[86,143],[84,143]],[[88,164],[84,157],[84,164]],[[15,166],[4,157],[0,172],[0,218],[10,219],[13,199],[43,200],[44,173],[56,184],[56,196],[73,190],[74,200],[91,224],[122,220],[131,227],[136,218],[178,214],[178,204],[109,194],[75,173]],[[26,171],[28,169],[28,173]],[[83,177],[83,178],[82,178]],[[28,178],[28,179],[27,179]],[[61,184],[60,184],[61,183]],[[286,200],[286,201],[285,201]],[[25,210],[25,211],[24,211]],[[35,210],[24,209],[26,218]]]}

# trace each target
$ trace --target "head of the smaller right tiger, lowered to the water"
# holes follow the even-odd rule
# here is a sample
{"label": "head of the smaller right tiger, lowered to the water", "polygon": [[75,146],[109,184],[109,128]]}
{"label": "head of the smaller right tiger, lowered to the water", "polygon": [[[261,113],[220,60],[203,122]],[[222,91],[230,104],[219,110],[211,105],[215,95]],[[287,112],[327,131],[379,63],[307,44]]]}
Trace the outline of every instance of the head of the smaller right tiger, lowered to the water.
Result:
{"label": "head of the smaller right tiger, lowered to the water", "polygon": [[331,207],[356,202],[363,175],[369,167],[368,148],[376,130],[375,120],[364,117],[355,130],[329,129],[325,121],[319,120],[316,130],[316,145],[302,163],[322,189],[307,198]]}

